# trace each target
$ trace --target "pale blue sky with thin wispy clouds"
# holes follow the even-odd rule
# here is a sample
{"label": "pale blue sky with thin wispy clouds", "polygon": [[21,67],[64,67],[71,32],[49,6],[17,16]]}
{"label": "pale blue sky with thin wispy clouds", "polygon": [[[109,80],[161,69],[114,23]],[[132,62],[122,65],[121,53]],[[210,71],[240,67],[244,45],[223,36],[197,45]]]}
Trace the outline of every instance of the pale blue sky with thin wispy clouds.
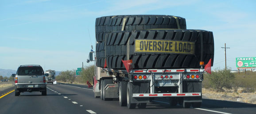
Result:
{"label": "pale blue sky with thin wispy clouds", "polygon": [[107,15],[175,15],[187,29],[213,31],[215,68],[236,69],[256,57],[255,0],[0,0],[0,68],[36,64],[72,70],[95,50],[95,19]]}

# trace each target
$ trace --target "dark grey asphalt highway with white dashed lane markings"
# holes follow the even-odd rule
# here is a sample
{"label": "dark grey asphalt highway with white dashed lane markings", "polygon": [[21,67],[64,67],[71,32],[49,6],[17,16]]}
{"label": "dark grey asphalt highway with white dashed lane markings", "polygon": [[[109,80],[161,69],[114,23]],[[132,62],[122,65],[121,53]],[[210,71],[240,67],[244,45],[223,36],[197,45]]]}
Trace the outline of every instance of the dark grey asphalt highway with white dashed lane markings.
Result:
{"label": "dark grey asphalt highway with white dashed lane markings", "polygon": [[203,99],[201,108],[170,107],[163,100],[147,103],[146,109],[119,106],[118,99],[94,98],[93,88],[76,84],[48,84],[47,96],[24,92],[15,96],[13,88],[0,92],[0,114],[256,114],[256,105]]}

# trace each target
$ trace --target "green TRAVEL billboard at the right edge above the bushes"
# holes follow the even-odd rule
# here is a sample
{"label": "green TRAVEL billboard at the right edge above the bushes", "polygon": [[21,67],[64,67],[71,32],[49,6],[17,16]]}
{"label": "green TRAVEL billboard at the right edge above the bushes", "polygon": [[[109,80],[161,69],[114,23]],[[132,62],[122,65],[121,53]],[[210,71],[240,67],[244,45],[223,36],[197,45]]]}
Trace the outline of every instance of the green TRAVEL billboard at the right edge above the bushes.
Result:
{"label": "green TRAVEL billboard at the right edge above the bushes", "polygon": [[252,68],[256,67],[256,57],[237,57],[237,68]]}

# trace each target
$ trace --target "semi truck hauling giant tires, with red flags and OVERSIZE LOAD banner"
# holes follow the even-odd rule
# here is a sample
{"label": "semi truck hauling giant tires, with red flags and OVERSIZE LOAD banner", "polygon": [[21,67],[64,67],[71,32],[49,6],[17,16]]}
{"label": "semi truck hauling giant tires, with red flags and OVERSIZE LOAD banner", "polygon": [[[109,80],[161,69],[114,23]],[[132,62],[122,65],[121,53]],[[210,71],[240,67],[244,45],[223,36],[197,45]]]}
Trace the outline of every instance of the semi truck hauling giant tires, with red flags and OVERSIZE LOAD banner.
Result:
{"label": "semi truck hauling giant tires, with red flags and OVERSIZE LOAD banner", "polygon": [[[200,107],[205,63],[213,65],[213,33],[187,30],[171,15],[114,15],[96,19],[93,91],[104,101],[146,108],[159,97],[171,106]],[[95,56],[95,57],[93,57]]]}

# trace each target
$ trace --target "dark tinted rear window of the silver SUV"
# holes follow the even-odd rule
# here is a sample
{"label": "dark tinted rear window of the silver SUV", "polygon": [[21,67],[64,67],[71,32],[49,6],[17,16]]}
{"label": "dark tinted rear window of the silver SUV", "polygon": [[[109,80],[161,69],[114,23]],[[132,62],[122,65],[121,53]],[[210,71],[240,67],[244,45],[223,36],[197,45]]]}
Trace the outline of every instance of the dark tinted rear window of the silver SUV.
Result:
{"label": "dark tinted rear window of the silver SUV", "polygon": [[43,72],[43,68],[40,66],[25,66],[25,67],[18,68],[17,75],[19,76],[44,75],[44,72]]}

